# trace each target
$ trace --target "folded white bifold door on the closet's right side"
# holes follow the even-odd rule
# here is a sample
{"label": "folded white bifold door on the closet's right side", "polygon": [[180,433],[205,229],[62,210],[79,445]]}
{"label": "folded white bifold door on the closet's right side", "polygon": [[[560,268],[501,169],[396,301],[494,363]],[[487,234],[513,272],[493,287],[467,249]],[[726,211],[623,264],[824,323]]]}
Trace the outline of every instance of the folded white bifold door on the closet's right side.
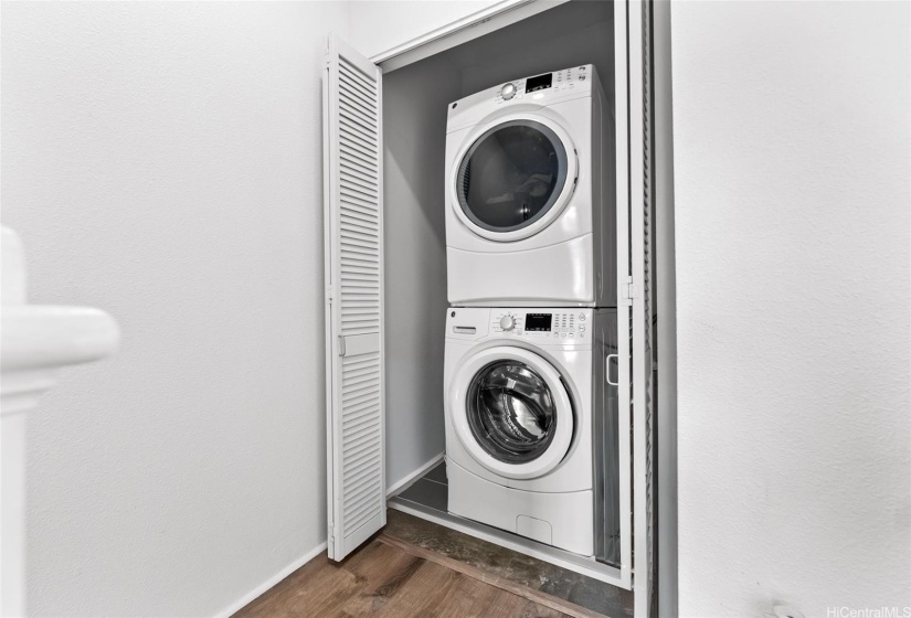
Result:
{"label": "folded white bifold door on the closet's right side", "polygon": [[[617,4],[624,4],[618,2]],[[652,0],[625,2],[628,111],[631,403],[633,424],[633,592],[636,618],[657,617],[657,462],[653,391],[654,136]],[[619,96],[617,97],[619,98]],[[618,115],[619,117],[619,115]],[[622,209],[617,209],[618,211]]]}

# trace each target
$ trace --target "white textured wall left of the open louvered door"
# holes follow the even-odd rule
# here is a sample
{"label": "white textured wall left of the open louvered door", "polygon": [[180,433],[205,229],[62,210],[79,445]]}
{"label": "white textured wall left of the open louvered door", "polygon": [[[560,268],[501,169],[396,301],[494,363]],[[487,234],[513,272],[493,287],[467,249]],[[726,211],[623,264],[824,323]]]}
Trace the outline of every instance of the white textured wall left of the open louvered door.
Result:
{"label": "white textured wall left of the open louvered door", "polygon": [[3,3],[3,223],[114,315],[29,440],[35,616],[206,616],[326,536],[319,70],[347,3]]}

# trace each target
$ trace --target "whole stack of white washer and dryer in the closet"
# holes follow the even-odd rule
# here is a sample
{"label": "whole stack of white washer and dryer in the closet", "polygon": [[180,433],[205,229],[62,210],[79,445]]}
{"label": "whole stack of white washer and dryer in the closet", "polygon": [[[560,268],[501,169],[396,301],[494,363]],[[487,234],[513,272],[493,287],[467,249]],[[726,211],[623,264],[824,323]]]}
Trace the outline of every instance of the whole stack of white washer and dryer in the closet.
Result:
{"label": "whole stack of white washer and dryer in the closet", "polygon": [[608,564],[619,536],[614,149],[592,65],[448,110],[448,510]]}

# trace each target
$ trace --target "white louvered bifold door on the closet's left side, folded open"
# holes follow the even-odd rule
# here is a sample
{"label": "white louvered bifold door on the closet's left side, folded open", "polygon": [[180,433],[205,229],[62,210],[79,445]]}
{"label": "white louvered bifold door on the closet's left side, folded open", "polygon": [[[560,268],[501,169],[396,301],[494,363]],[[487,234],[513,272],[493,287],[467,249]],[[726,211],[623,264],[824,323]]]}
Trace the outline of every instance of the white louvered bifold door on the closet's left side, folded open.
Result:
{"label": "white louvered bifold door on the closet's left side, folded open", "polygon": [[329,36],[322,82],[329,557],[385,525],[381,73]]}

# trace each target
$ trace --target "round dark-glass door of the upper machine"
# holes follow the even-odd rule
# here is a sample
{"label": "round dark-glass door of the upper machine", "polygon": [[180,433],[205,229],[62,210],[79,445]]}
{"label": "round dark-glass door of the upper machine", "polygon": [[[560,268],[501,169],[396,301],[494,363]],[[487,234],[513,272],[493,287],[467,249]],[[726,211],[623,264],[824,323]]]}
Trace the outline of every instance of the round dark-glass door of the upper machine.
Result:
{"label": "round dark-glass door of the upper machine", "polygon": [[563,210],[576,170],[569,136],[555,122],[528,115],[500,119],[458,158],[456,212],[486,238],[526,238]]}

